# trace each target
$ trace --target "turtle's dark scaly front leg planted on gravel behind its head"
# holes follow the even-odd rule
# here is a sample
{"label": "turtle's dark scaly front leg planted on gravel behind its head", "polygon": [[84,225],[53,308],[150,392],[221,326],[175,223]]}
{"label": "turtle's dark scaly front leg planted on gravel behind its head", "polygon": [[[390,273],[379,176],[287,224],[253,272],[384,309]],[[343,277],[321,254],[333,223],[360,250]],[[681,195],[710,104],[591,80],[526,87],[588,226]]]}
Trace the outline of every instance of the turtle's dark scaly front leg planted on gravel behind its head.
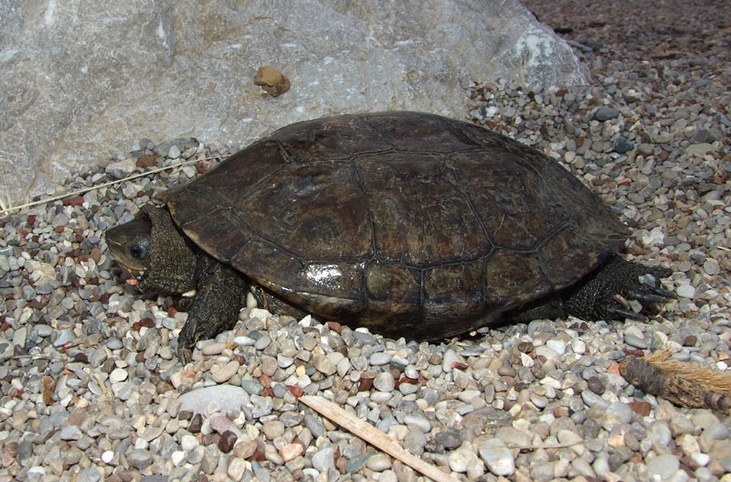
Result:
{"label": "turtle's dark scaly front leg planted on gravel behind its head", "polygon": [[198,340],[216,337],[236,325],[248,290],[240,273],[213,258],[201,260],[198,271],[196,296],[177,338],[177,356],[184,365]]}

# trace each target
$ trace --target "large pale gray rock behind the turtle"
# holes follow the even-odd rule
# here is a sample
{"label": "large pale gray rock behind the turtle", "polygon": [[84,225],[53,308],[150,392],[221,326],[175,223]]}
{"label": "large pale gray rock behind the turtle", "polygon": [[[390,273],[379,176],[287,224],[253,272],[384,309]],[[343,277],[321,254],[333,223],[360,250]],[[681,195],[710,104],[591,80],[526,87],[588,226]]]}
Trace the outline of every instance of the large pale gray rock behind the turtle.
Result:
{"label": "large pale gray rock behind the turtle", "polygon": [[[263,65],[291,91],[254,85]],[[238,147],[329,113],[461,117],[465,83],[498,78],[584,80],[517,0],[3,0],[0,163],[17,203],[141,137]]]}

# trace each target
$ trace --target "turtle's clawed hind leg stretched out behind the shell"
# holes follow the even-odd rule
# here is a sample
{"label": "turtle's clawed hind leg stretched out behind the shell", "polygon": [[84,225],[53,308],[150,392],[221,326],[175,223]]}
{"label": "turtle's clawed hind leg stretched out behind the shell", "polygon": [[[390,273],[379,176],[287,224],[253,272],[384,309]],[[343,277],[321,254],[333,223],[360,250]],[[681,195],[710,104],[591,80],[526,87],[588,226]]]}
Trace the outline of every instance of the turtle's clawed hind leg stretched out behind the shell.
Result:
{"label": "turtle's clawed hind leg stretched out behind the shell", "polygon": [[645,316],[632,311],[630,301],[640,302],[643,309],[667,303],[675,295],[660,287],[660,279],[672,273],[668,268],[612,257],[583,282],[567,290],[563,307],[568,314],[585,320],[630,318],[646,321]]}

